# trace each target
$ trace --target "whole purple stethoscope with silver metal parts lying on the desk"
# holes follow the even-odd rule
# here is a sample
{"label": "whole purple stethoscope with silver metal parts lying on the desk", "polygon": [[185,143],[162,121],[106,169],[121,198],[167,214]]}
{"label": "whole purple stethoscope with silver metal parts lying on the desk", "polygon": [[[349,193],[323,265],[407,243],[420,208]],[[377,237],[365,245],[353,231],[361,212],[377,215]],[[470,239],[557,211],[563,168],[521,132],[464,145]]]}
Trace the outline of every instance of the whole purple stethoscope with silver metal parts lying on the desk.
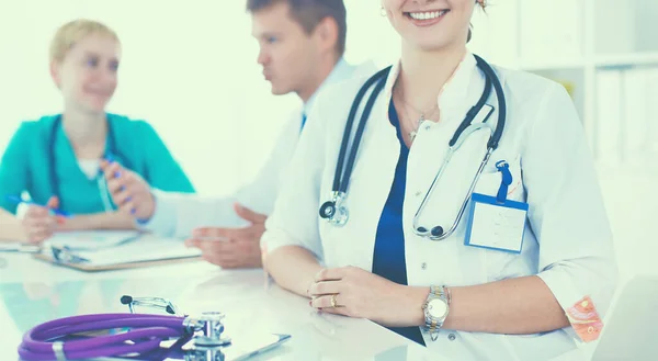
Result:
{"label": "whole purple stethoscope with silver metal parts lying on the desk", "polygon": [[[230,338],[223,337],[224,314],[203,313],[201,317],[179,315],[177,308],[163,298],[134,298],[123,296],[121,302],[128,305],[129,314],[99,314],[60,318],[41,324],[25,334],[19,347],[19,356],[25,361],[61,361],[90,358],[126,357],[135,360],[163,360],[184,354],[188,361],[220,361],[222,350],[229,347]],[[134,306],[143,305],[166,311],[169,315],[135,314]],[[75,337],[99,330],[128,329],[125,332],[97,337]],[[60,339],[68,337],[69,340]],[[279,335],[279,341],[260,350],[265,351],[290,339]],[[160,343],[178,339],[168,349]],[[182,347],[193,342],[191,350]],[[254,356],[252,353],[250,356]],[[128,357],[129,356],[129,357]]]}

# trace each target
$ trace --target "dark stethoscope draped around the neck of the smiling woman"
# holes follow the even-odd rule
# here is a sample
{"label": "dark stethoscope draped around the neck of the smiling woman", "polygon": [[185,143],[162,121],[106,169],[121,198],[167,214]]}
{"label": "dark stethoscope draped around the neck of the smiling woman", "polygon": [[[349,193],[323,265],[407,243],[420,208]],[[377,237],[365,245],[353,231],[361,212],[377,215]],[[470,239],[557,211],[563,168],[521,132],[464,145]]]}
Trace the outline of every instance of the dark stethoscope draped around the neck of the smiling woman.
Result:
{"label": "dark stethoscope draped around the neck of the smiling woman", "polygon": [[[445,239],[445,238],[450,237],[456,230],[456,228],[460,224],[460,221],[462,219],[462,217],[464,215],[466,206],[468,205],[470,195],[473,194],[473,191],[475,190],[477,181],[479,180],[479,177],[483,173],[485,166],[489,161],[491,154],[494,153],[494,150],[496,150],[496,148],[498,148],[498,144],[500,142],[500,138],[502,137],[502,132],[504,129],[507,106],[506,106],[504,93],[503,93],[500,80],[498,79],[498,77],[496,76],[496,72],[494,71],[494,69],[487,61],[485,61],[481,57],[479,57],[477,55],[474,55],[474,57],[477,61],[478,68],[485,75],[485,89],[484,89],[483,94],[480,95],[479,100],[477,101],[477,103],[475,105],[473,105],[470,108],[470,110],[468,110],[468,112],[466,113],[466,116],[464,117],[464,121],[462,121],[462,123],[455,131],[453,137],[449,142],[449,150],[443,160],[443,163],[441,165],[441,168],[439,168],[436,176],[434,177],[428,192],[426,193],[420,206],[418,207],[418,211],[416,212],[416,214],[413,216],[413,233],[418,236],[430,238],[431,240]],[[386,83],[386,79],[388,78],[390,69],[392,69],[392,67],[387,67],[387,68],[378,71],[374,76],[372,76],[370,79],[367,79],[366,82],[361,87],[361,89],[356,93],[356,97],[354,98],[354,101],[350,109],[350,113],[348,115],[348,121],[345,123],[345,128],[343,132],[343,138],[341,142],[340,151],[338,155],[336,172],[333,176],[333,185],[331,188],[331,200],[325,202],[320,206],[320,210],[319,210],[320,217],[326,219],[327,222],[329,222],[329,224],[331,224],[333,226],[342,227],[348,223],[348,221],[350,218],[348,207],[344,205],[344,202],[345,202],[345,199],[348,195],[348,185],[349,185],[350,176],[351,176],[352,169],[354,167],[354,160],[356,159],[359,145],[361,144],[361,139],[363,137],[363,132],[365,129],[365,124],[367,123],[367,120],[370,117],[370,114],[372,112],[374,103],[377,100],[377,97],[384,89],[384,86]],[[371,90],[371,88],[373,88],[373,86],[374,86],[374,89],[370,94],[370,98],[365,104],[363,113],[361,114],[361,120],[360,120],[359,126],[354,133],[352,145],[350,147],[350,138],[352,135],[352,128],[353,128],[354,120],[356,117],[356,112],[359,111],[359,108],[361,106],[361,103],[363,102],[365,94],[367,93],[368,90]],[[420,216],[422,215],[422,212],[424,211],[424,208],[436,187],[438,181],[441,179],[441,177],[445,172],[445,169],[446,169],[447,165],[450,163],[452,156],[460,149],[460,147],[464,144],[464,142],[470,134],[473,134],[477,131],[484,129],[484,128],[488,128],[489,131],[491,131],[491,125],[489,123],[487,123],[487,121],[488,121],[489,116],[491,115],[494,108],[490,105],[487,105],[486,102],[489,99],[492,89],[496,91],[496,98],[498,99],[498,108],[499,108],[498,109],[498,122],[496,123],[496,128],[491,132],[489,140],[487,142],[487,151],[484,156],[483,161],[480,162],[480,166],[477,170],[476,176],[473,178],[473,181],[470,182],[468,192],[465,195],[464,201],[462,202],[462,205],[460,207],[457,216],[455,217],[454,222],[452,223],[452,225],[450,227],[446,227],[444,225],[427,226],[427,225],[420,224],[420,222],[419,222]],[[473,123],[473,121],[476,120],[476,117],[478,117],[480,120],[480,122]],[[349,151],[349,154],[348,154],[348,151]]]}

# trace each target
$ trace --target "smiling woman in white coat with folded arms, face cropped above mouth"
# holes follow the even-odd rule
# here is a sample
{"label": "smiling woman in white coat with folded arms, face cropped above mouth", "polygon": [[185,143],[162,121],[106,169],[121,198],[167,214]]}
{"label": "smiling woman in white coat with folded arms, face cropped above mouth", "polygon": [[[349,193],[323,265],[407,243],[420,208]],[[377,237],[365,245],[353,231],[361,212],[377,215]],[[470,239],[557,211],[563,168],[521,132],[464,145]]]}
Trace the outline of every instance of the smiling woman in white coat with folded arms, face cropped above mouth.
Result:
{"label": "smiling woman in white coat with folded arms, face cropped above mouth", "polygon": [[[368,318],[438,354],[547,360],[603,328],[612,235],[566,90],[487,71],[467,50],[485,5],[382,1],[401,58],[371,78],[382,89],[368,88],[351,126],[367,79],[318,99],[266,223],[264,266],[311,307]],[[451,143],[469,114],[474,125]]]}

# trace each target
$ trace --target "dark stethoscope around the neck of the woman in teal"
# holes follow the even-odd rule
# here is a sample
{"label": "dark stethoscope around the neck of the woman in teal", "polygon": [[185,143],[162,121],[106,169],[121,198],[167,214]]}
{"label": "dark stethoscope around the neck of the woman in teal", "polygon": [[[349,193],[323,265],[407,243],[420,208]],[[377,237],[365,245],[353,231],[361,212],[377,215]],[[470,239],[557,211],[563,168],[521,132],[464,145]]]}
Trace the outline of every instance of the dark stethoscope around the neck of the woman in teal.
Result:
{"label": "dark stethoscope around the neck of the woman in teal", "polygon": [[[57,177],[57,157],[55,155],[55,146],[57,144],[57,129],[60,127],[61,117],[58,116],[55,122],[53,122],[53,127],[50,128],[50,135],[48,138],[48,177],[52,187],[52,195],[56,195],[59,199],[59,208],[64,210],[64,200],[61,198],[61,187],[59,182],[59,178]],[[124,161],[124,166],[126,168],[131,168],[127,163],[128,159],[125,157],[121,157],[121,154],[116,147],[116,139],[114,136],[114,132],[112,128],[112,122],[106,120],[107,125],[107,145],[105,151],[105,159],[107,160],[116,160],[121,158]],[[112,196],[107,191],[107,182],[105,181],[105,177],[102,171],[99,170],[99,174],[95,177],[97,187],[99,189],[101,201],[103,202],[103,208],[105,212],[114,211],[114,205],[112,203]]]}

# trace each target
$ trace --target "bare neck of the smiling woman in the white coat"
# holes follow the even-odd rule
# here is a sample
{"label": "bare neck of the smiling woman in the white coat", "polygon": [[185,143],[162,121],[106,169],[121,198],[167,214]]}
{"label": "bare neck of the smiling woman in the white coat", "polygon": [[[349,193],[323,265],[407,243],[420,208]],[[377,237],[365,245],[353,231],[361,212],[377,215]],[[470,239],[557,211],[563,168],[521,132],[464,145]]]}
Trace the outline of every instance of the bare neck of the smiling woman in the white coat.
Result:
{"label": "bare neck of the smiling woman in the white coat", "polygon": [[401,54],[398,81],[405,89],[405,97],[416,99],[416,106],[427,108],[435,104],[441,89],[464,59],[466,46],[457,44],[428,52],[404,42]]}

